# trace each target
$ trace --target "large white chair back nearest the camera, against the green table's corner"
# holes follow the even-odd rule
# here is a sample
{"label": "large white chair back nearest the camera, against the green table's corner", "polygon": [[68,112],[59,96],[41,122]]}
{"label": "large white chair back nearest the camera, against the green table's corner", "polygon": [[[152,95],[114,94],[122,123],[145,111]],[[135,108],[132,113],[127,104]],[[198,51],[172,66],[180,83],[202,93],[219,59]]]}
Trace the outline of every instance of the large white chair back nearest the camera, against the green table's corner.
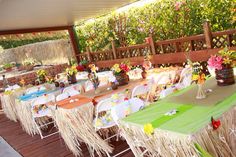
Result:
{"label": "large white chair back nearest the camera, against the green table's corner", "polygon": [[131,98],[112,107],[111,116],[116,124],[118,124],[119,119],[123,119],[131,113],[138,112],[139,110],[143,109],[144,106],[145,103],[141,99]]}

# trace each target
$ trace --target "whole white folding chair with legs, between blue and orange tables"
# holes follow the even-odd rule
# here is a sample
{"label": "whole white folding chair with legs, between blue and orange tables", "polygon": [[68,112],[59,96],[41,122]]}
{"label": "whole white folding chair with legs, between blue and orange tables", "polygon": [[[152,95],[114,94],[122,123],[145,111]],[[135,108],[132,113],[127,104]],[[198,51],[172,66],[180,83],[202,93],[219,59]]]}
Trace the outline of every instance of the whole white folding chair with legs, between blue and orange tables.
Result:
{"label": "whole white folding chair with legs, between blue and orange tables", "polygon": [[[58,133],[58,131],[56,131],[56,132],[48,134],[46,136],[44,136],[42,133],[41,129],[47,127],[50,124],[54,124],[54,121],[45,122],[44,124],[37,123],[38,118],[51,117],[50,109],[46,105],[49,102],[55,102],[55,96],[53,94],[38,97],[32,102],[32,105],[31,105],[33,122],[35,123],[37,130],[39,131],[41,139],[47,138],[49,136],[52,136],[52,135]],[[54,124],[54,126],[55,126],[55,124]]]}

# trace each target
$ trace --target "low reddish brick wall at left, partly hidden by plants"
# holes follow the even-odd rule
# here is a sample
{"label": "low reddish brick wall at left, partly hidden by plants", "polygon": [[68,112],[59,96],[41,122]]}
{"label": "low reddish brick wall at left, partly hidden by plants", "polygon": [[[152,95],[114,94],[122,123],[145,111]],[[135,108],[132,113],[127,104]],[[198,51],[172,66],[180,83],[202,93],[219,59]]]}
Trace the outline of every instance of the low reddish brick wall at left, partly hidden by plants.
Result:
{"label": "low reddish brick wall at left, partly hidden by plants", "polygon": [[[45,70],[47,71],[48,76],[55,77],[56,74],[64,72],[67,67],[68,64],[60,64],[47,67],[45,68]],[[25,80],[26,85],[32,84],[37,79],[36,71],[27,72],[26,74],[22,74],[16,77],[7,78],[7,81],[9,82],[9,84],[14,85],[19,84],[21,79]],[[2,80],[0,80],[0,88],[2,88],[2,86],[3,82]]]}

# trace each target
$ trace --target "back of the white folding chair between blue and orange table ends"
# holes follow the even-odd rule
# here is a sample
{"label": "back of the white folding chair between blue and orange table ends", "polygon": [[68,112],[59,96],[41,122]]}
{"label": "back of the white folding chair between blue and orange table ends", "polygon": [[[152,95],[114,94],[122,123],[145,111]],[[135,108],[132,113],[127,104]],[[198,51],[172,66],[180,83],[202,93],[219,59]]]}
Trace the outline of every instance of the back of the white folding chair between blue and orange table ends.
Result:
{"label": "back of the white folding chair between blue and orange table ends", "polygon": [[49,109],[46,106],[49,102],[55,102],[55,95],[48,94],[36,98],[31,104],[33,117],[43,117],[49,115]]}

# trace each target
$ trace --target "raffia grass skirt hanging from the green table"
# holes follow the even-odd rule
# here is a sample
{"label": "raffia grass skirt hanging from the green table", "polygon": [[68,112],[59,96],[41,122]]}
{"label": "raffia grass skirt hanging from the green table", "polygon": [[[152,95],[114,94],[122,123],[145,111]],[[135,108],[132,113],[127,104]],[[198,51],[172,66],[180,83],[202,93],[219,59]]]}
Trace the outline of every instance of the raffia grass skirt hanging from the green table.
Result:
{"label": "raffia grass skirt hanging from the green table", "polygon": [[[236,107],[224,113],[220,120],[221,126],[217,130],[209,124],[191,135],[161,129],[147,135],[140,126],[124,122],[120,128],[136,157],[143,152],[140,146],[146,148],[152,157],[197,157],[199,154],[194,143],[200,144],[213,157],[235,157]],[[138,141],[138,145],[134,141]]]}

